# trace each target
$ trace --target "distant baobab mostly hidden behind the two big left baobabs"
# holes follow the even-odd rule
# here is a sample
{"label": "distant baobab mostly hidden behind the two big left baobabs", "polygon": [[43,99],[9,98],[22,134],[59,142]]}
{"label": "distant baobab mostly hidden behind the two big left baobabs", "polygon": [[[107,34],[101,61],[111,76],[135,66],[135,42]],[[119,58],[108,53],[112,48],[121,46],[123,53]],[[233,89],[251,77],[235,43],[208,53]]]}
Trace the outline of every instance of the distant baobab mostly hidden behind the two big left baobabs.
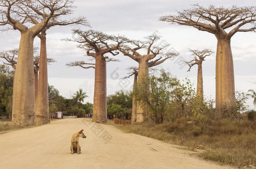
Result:
{"label": "distant baobab mostly hidden behind the two big left baobabs", "polygon": [[[38,93],[38,71],[39,71],[39,55],[37,55],[38,48],[34,48],[34,103],[35,103],[35,109],[36,103],[37,103],[37,93]],[[17,66],[17,58],[18,58],[18,49],[13,50],[7,50],[0,53],[0,58],[3,58],[5,61],[3,63],[5,65],[11,66],[15,72],[16,72],[16,66]],[[47,63],[53,63],[55,62],[52,58],[47,58]],[[13,81],[15,78],[15,73],[13,77]]]}

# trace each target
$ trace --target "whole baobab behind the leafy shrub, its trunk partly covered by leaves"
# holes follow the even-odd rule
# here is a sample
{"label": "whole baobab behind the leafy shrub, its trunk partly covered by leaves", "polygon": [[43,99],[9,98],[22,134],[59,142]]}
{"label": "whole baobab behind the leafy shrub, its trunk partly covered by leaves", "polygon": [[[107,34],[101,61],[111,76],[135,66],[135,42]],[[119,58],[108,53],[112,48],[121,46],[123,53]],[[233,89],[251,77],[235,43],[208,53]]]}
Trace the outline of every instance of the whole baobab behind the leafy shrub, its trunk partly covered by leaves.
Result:
{"label": "whole baobab behind the leafy shrub, its trunk partly covered by leaves", "polygon": [[[140,92],[147,93],[149,90],[148,78],[150,67],[157,66],[168,58],[178,55],[178,53],[163,53],[163,50],[165,50],[168,45],[155,46],[154,43],[159,40],[159,38],[160,37],[158,35],[150,35],[145,38],[145,41],[133,40],[131,41],[130,46],[122,45],[119,48],[123,55],[126,55],[138,62],[138,91]],[[142,49],[141,52],[138,51],[140,49]],[[141,54],[143,49],[146,49],[146,53]],[[152,61],[152,59],[157,56],[159,56],[159,58]],[[145,105],[146,103],[137,101],[136,122],[144,121],[146,117]]]}

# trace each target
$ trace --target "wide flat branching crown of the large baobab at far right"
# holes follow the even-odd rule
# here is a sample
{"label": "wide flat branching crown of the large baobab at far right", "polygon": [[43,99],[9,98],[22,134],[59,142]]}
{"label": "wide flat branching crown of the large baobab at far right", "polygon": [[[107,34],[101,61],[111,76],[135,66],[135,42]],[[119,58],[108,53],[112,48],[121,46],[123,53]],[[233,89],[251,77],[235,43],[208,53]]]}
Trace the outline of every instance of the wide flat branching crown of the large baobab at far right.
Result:
{"label": "wide flat branching crown of the large baobab at far right", "polygon": [[[230,8],[217,8],[214,5],[209,5],[204,8],[195,4],[192,5],[191,9],[178,12],[178,15],[165,15],[160,17],[159,20],[172,24],[193,26],[198,30],[213,33],[217,38],[230,39],[236,32],[255,31],[256,7],[238,8],[233,5]],[[253,25],[251,28],[241,29],[242,26],[250,23]],[[232,28],[232,30],[226,32],[225,29],[227,28]]]}

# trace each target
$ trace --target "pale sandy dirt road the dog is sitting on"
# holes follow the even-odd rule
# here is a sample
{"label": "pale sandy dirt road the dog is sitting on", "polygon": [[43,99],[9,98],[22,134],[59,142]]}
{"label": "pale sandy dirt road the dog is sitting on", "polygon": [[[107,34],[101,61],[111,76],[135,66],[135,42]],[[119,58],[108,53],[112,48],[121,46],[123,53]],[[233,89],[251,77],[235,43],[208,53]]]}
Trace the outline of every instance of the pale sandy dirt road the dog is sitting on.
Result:
{"label": "pale sandy dirt road the dog is sitting on", "polygon": [[[81,154],[71,154],[71,136],[81,129],[87,136],[79,139]],[[192,153],[83,118],[56,120],[0,134],[1,169],[230,168],[204,161]]]}

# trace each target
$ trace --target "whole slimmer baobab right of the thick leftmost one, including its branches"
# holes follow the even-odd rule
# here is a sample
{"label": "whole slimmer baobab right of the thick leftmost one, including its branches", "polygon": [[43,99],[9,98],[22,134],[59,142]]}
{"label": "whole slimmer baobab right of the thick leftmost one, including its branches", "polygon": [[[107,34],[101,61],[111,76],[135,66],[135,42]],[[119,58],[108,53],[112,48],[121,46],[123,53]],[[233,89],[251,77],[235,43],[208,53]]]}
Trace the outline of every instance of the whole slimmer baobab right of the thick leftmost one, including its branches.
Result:
{"label": "whole slimmer baobab right of the thick leftmost one, including its branches", "polygon": [[[69,16],[73,13],[73,0],[65,0],[66,6],[65,10],[59,15],[52,17],[49,22],[47,23],[46,27],[41,30],[37,37],[41,40],[40,46],[40,67],[39,67],[39,83],[38,83],[38,99],[35,109],[35,121],[36,124],[47,124],[50,122],[49,120],[49,98],[48,98],[48,73],[47,73],[47,50],[46,50],[46,31],[53,26],[60,25],[86,25],[89,26],[87,23],[86,18],[79,17],[73,18],[70,20],[64,20],[64,16]],[[31,3],[24,1],[22,2],[23,5],[30,7],[32,10],[38,10],[35,6]],[[22,9],[23,13],[20,13],[24,18],[29,18],[29,22],[37,25],[38,23],[42,22],[45,18],[47,18],[47,13],[29,13],[26,10]]]}

